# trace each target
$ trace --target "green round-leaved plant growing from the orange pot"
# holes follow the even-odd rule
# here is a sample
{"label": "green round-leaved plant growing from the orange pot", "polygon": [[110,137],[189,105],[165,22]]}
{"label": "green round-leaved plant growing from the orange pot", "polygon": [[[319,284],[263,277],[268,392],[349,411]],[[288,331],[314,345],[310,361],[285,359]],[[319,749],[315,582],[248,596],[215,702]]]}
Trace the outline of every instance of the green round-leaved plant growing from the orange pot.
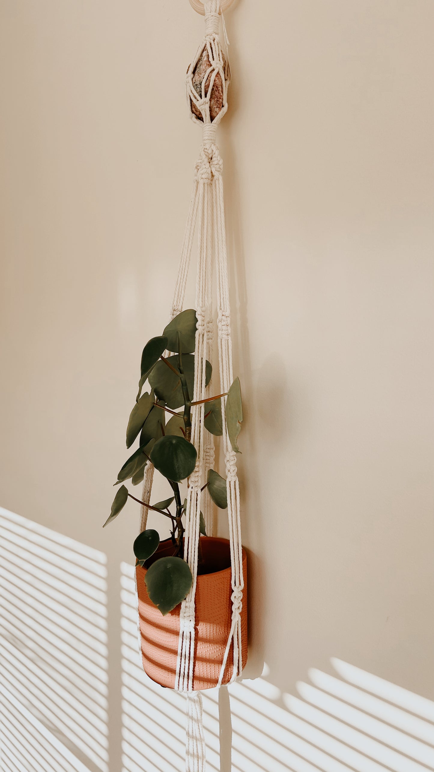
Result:
{"label": "green round-leaved plant growing from the orange pot", "polygon": [[[192,572],[184,558],[185,512],[187,499],[181,500],[180,483],[187,480],[195,469],[197,452],[192,445],[192,407],[205,405],[203,422],[213,435],[222,435],[223,421],[226,422],[232,449],[239,452],[237,438],[242,423],[242,403],[239,379],[232,383],[227,394],[217,394],[198,401],[192,401],[195,379],[195,333],[197,318],[194,309],[182,311],[165,327],[160,337],[151,338],[141,356],[141,378],[136,404],[131,411],[127,425],[127,448],[139,437],[137,450],[124,463],[117,475],[115,486],[131,480],[137,486],[144,479],[147,463],[167,479],[173,496],[164,501],[147,504],[128,492],[121,484],[110,515],[104,527],[111,523],[123,510],[127,499],[147,506],[170,520],[173,554],[157,557],[145,574],[147,594],[152,603],[167,615],[184,598],[192,587]],[[164,351],[175,352],[164,357]],[[212,366],[205,362],[205,384],[211,380]],[[141,394],[146,381],[150,391]],[[225,410],[222,412],[222,399]],[[178,408],[182,411],[176,412]],[[166,415],[170,415],[166,423]],[[209,469],[208,479],[203,486],[220,509],[228,506],[226,481],[214,469]],[[203,490],[202,489],[202,490]],[[205,521],[200,513],[200,532],[205,536]],[[142,567],[158,550],[158,532],[147,529],[134,541],[136,565]],[[200,550],[200,541],[199,541]],[[199,558],[200,559],[200,558]]]}

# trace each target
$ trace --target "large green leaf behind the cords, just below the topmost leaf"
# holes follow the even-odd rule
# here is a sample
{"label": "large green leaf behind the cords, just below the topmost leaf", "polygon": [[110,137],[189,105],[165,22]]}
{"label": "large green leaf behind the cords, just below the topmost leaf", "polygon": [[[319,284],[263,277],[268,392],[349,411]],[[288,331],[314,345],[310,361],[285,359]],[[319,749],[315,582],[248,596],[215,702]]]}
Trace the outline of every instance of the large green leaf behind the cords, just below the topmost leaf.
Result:
{"label": "large green leaf behind the cords, just below the topmost leaf", "polygon": [[[178,369],[178,357],[174,354],[172,357],[168,357],[168,362]],[[184,354],[182,357],[182,369],[185,373],[188,386],[188,396],[193,400],[194,386],[195,386],[195,356],[194,354]],[[205,365],[205,380],[206,384],[209,384],[211,380],[212,367],[207,361]],[[154,370],[149,376],[149,383],[155,389],[158,399],[163,399],[168,408],[176,410],[184,405],[184,398],[182,396],[181,381],[179,376],[174,373],[167,364],[163,361],[157,362]]]}

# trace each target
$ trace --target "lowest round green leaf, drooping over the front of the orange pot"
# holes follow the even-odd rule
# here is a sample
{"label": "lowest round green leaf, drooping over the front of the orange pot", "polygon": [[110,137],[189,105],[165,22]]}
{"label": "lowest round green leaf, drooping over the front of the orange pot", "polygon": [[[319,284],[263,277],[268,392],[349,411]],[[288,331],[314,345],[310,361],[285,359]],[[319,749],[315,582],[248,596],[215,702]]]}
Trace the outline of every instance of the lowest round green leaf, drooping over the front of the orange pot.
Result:
{"label": "lowest round green leaf, drooping over the front of the orange pot", "polygon": [[181,557],[160,557],[147,569],[144,581],[149,598],[165,616],[184,600],[193,577]]}

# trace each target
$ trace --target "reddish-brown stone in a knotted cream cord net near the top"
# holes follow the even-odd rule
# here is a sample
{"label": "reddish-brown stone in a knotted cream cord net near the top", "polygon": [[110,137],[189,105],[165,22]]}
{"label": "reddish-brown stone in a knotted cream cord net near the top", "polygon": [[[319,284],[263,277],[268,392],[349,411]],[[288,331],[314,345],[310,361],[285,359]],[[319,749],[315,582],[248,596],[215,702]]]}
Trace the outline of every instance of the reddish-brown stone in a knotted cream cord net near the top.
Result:
{"label": "reddish-brown stone in a knotted cream cord net near the top", "polygon": [[205,16],[206,34],[185,79],[192,120],[218,124],[228,109],[229,65],[219,41],[219,14]]}

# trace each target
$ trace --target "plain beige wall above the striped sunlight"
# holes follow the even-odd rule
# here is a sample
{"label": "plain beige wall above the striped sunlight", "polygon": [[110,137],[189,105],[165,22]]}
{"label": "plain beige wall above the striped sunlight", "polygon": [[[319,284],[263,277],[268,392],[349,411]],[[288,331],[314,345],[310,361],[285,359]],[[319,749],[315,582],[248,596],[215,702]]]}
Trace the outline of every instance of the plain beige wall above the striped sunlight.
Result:
{"label": "plain beige wall above the striped sunlight", "polygon": [[[433,24],[431,0],[226,14],[248,672],[287,692],[334,656],[433,695]],[[0,29],[0,504],[108,555],[116,693],[137,510],[101,525],[168,316],[202,18],[1,0]]]}

